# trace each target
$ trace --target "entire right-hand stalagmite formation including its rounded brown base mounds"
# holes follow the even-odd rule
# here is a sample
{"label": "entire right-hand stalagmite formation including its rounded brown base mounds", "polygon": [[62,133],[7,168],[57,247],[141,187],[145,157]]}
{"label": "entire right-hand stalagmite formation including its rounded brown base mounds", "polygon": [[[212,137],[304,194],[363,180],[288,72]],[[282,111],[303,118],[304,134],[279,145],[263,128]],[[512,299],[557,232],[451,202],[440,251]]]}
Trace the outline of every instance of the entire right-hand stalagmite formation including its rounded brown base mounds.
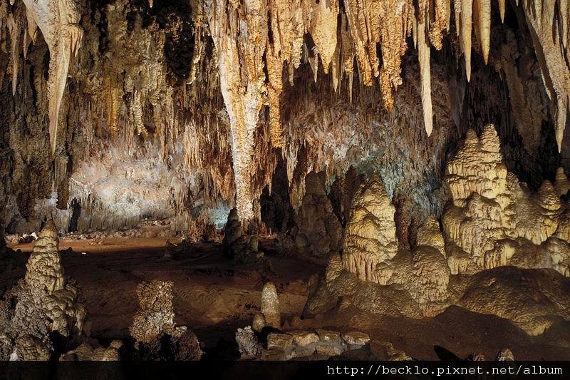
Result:
{"label": "entire right-hand stalagmite formation including its rounded brown base mounds", "polygon": [[447,165],[442,226],[427,217],[412,249],[398,250],[393,205],[372,175],[353,197],[343,252],[309,285],[305,312],[346,319],[354,307],[418,318],[457,304],[542,334],[570,318],[560,291],[570,277],[570,211],[561,199],[568,183],[559,170],[554,185],[546,180],[532,192],[502,162],[493,125],[479,137],[469,130]]}

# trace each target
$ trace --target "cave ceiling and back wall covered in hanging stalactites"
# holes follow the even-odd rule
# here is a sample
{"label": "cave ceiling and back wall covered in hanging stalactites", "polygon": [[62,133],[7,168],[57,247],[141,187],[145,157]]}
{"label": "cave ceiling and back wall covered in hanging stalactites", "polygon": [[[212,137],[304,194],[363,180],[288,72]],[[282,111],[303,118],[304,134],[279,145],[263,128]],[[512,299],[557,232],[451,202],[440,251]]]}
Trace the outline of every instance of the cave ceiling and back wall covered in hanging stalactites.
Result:
{"label": "cave ceiling and back wall covered in hanging stalactites", "polygon": [[354,166],[441,215],[486,123],[537,187],[568,156],[569,28],[566,0],[0,0],[2,224],[252,220],[280,161],[294,207]]}

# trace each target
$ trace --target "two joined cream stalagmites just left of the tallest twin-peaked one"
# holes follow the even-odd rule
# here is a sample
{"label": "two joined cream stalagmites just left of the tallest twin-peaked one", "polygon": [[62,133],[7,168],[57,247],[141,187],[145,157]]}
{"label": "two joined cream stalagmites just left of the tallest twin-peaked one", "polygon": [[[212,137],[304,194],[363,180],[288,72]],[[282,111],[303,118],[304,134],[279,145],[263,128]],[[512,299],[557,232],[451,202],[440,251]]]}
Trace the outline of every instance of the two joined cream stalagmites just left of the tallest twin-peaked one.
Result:
{"label": "two joined cream stalagmites just left of the tallest twin-peaked one", "polygon": [[417,247],[398,252],[394,207],[376,175],[357,190],[346,227],[343,268],[359,279],[403,286],[425,316],[447,304],[450,269],[435,217],[418,229]]}

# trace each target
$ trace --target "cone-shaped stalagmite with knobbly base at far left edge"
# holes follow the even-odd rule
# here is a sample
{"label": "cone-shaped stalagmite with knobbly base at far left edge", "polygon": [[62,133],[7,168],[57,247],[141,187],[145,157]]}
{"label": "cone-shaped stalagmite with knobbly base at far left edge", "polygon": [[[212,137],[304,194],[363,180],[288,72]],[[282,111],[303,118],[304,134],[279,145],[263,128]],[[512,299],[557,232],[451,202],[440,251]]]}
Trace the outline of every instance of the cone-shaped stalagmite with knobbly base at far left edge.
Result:
{"label": "cone-shaped stalagmite with knobbly base at far left edge", "polygon": [[[78,289],[63,275],[58,235],[51,220],[46,222],[26,265],[26,276],[4,294],[5,302],[16,302],[6,318],[2,353],[14,360],[47,360],[53,354],[53,332],[69,344],[84,337],[86,309]],[[6,349],[11,346],[11,351]],[[4,357],[4,360],[8,358]]]}

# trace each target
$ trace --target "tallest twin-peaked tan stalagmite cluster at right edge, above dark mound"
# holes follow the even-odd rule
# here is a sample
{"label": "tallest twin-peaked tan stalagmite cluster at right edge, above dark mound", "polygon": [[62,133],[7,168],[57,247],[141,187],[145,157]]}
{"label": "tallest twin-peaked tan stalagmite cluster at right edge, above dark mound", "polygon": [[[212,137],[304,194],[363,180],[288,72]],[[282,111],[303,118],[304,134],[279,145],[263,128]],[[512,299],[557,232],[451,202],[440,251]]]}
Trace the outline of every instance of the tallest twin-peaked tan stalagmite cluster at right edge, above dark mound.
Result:
{"label": "tallest twin-peaked tan stalagmite cluster at right edge, above dark mound", "polygon": [[[469,130],[447,166],[452,205],[442,217],[453,273],[475,273],[501,265],[552,267],[568,276],[569,223],[559,198],[568,179],[563,170],[532,193],[505,167],[497,132]],[[534,252],[534,253],[531,253]]]}

